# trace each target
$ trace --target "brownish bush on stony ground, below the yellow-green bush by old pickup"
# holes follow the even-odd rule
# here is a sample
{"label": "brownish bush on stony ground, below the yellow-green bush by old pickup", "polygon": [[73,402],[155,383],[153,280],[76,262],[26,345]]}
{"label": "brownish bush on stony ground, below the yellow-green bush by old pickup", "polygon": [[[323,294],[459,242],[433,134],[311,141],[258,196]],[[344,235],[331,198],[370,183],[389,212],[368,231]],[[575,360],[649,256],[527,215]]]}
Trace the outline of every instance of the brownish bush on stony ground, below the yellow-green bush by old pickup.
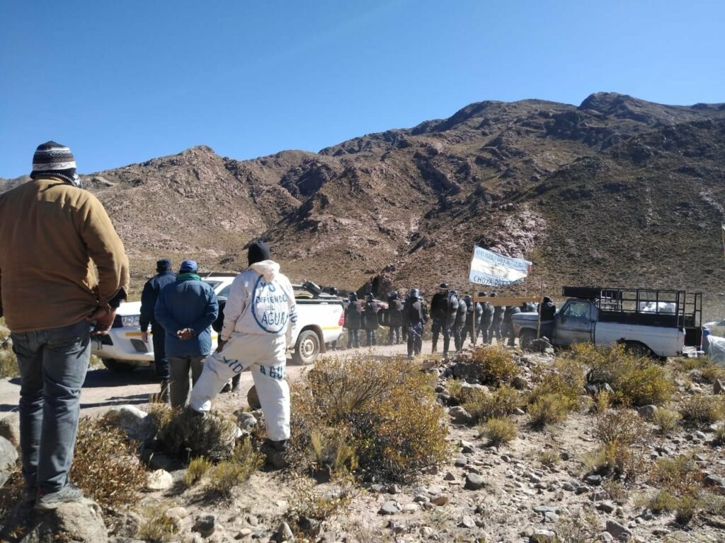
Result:
{"label": "brownish bush on stony ground, below the yellow-green bush by old pickup", "polygon": [[627,482],[645,473],[642,446],[647,429],[637,413],[624,409],[604,413],[597,418],[593,433],[600,447],[584,457],[589,471]]}

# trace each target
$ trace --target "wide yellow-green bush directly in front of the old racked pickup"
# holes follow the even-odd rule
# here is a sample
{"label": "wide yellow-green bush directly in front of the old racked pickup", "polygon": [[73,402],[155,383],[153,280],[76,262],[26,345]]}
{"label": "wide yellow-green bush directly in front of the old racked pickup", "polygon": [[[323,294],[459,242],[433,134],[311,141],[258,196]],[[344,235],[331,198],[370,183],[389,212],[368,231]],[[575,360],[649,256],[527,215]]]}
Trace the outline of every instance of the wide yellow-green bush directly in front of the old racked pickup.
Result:
{"label": "wide yellow-green bush directly in front of the old racked pickup", "polygon": [[661,405],[675,390],[661,366],[650,358],[628,353],[624,345],[577,343],[572,346],[572,355],[590,368],[587,381],[608,383],[620,405]]}

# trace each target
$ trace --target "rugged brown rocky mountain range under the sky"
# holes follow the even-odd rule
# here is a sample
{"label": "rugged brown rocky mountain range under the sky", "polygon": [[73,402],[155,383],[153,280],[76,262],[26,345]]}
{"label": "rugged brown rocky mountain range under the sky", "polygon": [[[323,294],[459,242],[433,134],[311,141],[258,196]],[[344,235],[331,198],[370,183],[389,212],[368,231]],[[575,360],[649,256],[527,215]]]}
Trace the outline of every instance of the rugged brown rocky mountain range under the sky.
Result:
{"label": "rugged brown rocky mountain range under the sky", "polygon": [[138,281],[158,256],[239,269],[261,236],[293,279],[471,291],[478,243],[534,262],[512,293],[687,288],[719,316],[724,136],[725,104],[595,93],[579,106],[479,102],[319,153],[236,161],[200,146],[83,177]]}

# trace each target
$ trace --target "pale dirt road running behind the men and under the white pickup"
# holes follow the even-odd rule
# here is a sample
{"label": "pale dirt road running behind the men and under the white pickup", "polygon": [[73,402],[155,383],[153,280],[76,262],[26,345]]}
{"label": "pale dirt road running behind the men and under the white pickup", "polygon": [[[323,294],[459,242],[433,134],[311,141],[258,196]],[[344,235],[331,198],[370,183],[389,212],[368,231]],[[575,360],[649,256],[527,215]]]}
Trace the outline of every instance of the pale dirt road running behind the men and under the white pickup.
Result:
{"label": "pale dirt road running behind the men and under the white pickup", "polygon": [[[431,352],[431,342],[423,343],[423,353]],[[323,356],[349,356],[353,353],[374,353],[382,356],[405,355],[405,345],[384,345],[375,348],[359,348],[350,350],[336,350]],[[298,379],[302,372],[310,366],[287,360],[288,379]],[[241,391],[222,394],[218,397],[220,407],[247,403],[247,391],[252,387],[252,374],[244,371],[241,374]],[[136,369],[128,374],[117,374],[107,369],[89,369],[86,382],[80,394],[81,416],[96,416],[113,405],[137,405],[140,408],[149,404],[149,397],[159,391],[159,384],[152,369]],[[0,379],[0,418],[7,413],[17,411],[17,402],[20,397],[20,379]]]}

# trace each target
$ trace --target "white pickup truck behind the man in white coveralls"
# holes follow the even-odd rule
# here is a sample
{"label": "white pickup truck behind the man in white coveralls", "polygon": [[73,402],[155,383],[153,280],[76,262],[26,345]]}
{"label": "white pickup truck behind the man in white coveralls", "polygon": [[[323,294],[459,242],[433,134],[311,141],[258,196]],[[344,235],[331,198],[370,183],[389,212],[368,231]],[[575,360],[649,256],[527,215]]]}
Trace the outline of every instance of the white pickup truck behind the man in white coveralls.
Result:
{"label": "white pickup truck behind the man in white coveralls", "polygon": [[[226,303],[229,289],[236,274],[209,274],[202,280],[209,283],[219,300],[220,311]],[[336,341],[342,333],[344,313],[342,300],[320,292],[312,282],[292,285],[297,302],[297,329],[292,337],[292,358],[297,363],[313,363],[325,344]],[[111,371],[131,371],[137,366],[152,366],[154,350],[149,341],[141,340],[138,326],[141,302],[122,303],[116,311],[111,331],[94,340],[91,352],[101,358]],[[212,330],[212,350],[217,347],[218,334]]]}

